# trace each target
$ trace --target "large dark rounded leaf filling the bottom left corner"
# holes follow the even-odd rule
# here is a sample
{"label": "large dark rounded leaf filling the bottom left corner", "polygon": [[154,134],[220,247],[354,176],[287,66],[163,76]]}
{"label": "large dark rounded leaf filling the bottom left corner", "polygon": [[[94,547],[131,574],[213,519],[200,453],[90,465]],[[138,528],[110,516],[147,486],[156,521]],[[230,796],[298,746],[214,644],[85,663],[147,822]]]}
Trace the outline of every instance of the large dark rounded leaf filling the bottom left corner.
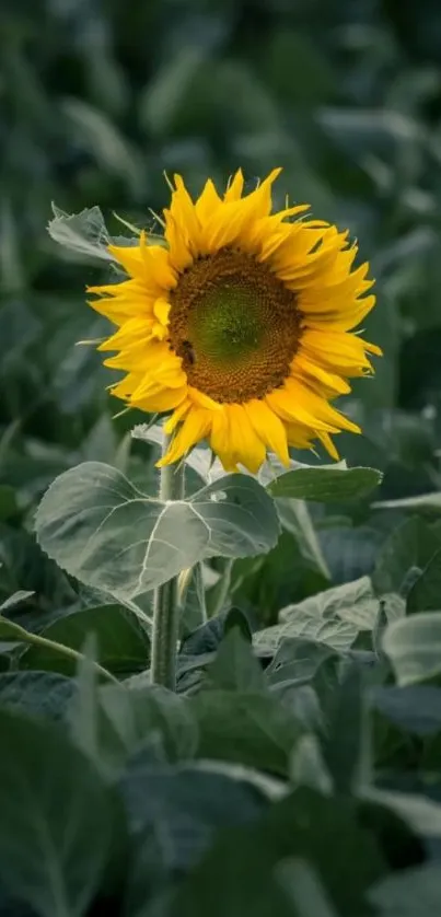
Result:
{"label": "large dark rounded leaf filling the bottom left corner", "polygon": [[112,796],[49,723],[0,710],[0,878],[42,917],[83,917],[114,837]]}

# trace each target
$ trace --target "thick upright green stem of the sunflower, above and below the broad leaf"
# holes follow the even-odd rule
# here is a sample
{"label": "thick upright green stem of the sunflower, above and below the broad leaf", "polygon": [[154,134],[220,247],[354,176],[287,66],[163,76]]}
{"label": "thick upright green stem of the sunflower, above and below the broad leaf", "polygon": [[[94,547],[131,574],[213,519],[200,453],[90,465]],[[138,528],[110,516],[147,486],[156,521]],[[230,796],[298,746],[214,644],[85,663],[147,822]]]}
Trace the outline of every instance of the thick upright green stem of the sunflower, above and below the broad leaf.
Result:
{"label": "thick upright green stem of the sunflower, above and below the broad leaf", "polygon": [[[165,455],[170,446],[170,437],[164,434],[162,454]],[[160,499],[182,500],[185,492],[184,462],[164,465],[161,468]],[[176,689],[176,650],[179,624],[179,584],[174,577],[154,590],[153,595],[153,630],[151,681]]]}

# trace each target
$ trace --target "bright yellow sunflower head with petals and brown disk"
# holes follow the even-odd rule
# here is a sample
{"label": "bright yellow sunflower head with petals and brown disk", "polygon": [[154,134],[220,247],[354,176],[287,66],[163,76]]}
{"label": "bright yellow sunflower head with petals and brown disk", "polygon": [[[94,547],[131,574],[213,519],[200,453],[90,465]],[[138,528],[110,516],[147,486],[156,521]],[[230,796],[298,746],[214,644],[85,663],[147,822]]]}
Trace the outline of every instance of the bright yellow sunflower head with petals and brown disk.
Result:
{"label": "bright yellow sunflower head with petals and brown disk", "polygon": [[353,268],[348,232],[301,217],[309,205],[271,213],[280,171],[245,196],[241,171],[222,197],[208,179],[196,201],[176,175],[162,244],[109,245],[127,278],[89,288],[117,326],[98,347],[126,372],[112,393],[170,415],[160,465],[207,439],[225,471],[255,473],[317,439],[338,458],[332,436],[360,432],[329,402],[381,355],[350,333],[375,302],[369,264]]}

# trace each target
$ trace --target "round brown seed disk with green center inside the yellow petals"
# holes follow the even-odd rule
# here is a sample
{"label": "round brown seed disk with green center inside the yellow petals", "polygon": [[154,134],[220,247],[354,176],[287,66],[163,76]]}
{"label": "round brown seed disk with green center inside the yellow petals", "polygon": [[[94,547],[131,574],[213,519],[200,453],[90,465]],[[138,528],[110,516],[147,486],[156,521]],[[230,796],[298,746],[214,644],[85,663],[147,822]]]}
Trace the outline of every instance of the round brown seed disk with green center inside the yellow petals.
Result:
{"label": "round brown seed disk with green center inside the yellow petals", "polygon": [[301,336],[295,294],[263,264],[221,249],[171,297],[170,347],[188,384],[218,402],[262,398],[290,375]]}

